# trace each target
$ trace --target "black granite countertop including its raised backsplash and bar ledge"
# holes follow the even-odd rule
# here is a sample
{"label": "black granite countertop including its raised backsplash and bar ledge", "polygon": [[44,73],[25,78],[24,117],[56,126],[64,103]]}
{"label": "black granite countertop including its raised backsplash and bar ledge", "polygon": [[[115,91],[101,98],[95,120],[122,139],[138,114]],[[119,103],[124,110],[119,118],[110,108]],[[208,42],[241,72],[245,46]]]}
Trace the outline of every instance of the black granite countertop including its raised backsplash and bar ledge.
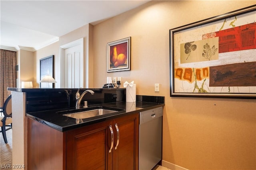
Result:
{"label": "black granite countertop including its raised backsplash and bar ledge", "polygon": [[[84,99],[88,102],[87,109],[92,107],[111,107],[113,110],[116,109],[118,111],[85,119],[75,119],[63,115],[66,113],[63,113],[63,111],[68,111],[68,113],[84,111],[83,108],[75,109],[77,88],[8,88],[10,91],[26,93],[26,117],[61,132],[164,106],[164,97],[162,96],[136,95],[137,102],[130,103],[125,102],[125,88],[90,89],[95,93],[93,96],[87,95],[86,99]],[[81,91],[84,90],[86,89],[84,88]],[[81,106],[83,105],[81,104]]]}

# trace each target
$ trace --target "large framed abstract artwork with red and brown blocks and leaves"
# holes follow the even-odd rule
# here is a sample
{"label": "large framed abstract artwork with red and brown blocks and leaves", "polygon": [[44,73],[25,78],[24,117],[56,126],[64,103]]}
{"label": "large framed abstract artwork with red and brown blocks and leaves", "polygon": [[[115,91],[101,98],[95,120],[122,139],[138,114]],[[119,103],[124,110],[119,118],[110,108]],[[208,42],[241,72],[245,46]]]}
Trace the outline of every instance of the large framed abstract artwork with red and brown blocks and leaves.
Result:
{"label": "large framed abstract artwork with red and brown blocks and leaves", "polygon": [[256,5],[169,32],[171,97],[256,98]]}

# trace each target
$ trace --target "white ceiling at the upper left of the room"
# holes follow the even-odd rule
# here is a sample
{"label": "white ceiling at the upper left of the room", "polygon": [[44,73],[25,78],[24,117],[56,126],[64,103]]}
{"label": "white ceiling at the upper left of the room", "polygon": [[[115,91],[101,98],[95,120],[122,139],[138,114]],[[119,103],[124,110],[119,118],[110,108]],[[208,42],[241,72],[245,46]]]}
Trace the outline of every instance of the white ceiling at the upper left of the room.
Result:
{"label": "white ceiling at the upper left of the room", "polygon": [[0,0],[0,45],[37,50],[83,25],[95,25],[148,1]]}

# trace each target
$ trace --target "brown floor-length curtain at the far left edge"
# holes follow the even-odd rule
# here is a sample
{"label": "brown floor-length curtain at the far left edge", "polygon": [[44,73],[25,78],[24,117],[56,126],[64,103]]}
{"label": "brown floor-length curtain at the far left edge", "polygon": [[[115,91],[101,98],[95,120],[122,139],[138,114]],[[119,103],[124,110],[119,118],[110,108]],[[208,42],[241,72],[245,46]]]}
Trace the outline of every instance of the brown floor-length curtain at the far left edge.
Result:
{"label": "brown floor-length curtain at the far left edge", "polygon": [[0,107],[10,95],[7,88],[16,87],[16,52],[1,49],[0,51]]}

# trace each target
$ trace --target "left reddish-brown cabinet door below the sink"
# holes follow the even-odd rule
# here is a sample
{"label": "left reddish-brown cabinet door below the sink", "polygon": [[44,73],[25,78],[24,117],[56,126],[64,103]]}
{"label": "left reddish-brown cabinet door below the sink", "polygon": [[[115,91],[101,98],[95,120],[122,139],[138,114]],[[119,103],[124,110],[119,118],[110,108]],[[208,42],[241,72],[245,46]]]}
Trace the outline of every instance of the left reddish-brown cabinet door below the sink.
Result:
{"label": "left reddish-brown cabinet door below the sink", "polygon": [[111,167],[111,123],[104,121],[67,132],[67,170],[108,170]]}

